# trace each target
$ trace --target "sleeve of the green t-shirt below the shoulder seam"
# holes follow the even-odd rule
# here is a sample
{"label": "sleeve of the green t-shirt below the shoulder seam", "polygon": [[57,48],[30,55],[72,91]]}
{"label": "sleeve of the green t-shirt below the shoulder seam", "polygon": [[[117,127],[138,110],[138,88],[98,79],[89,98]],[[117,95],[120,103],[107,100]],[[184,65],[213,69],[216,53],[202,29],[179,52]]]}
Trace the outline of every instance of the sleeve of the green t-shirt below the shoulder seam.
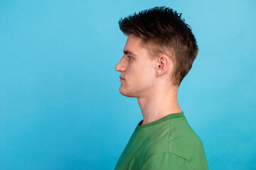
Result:
{"label": "sleeve of the green t-shirt below the shoulder seam", "polygon": [[144,162],[141,170],[194,170],[186,159],[176,154],[154,154]]}

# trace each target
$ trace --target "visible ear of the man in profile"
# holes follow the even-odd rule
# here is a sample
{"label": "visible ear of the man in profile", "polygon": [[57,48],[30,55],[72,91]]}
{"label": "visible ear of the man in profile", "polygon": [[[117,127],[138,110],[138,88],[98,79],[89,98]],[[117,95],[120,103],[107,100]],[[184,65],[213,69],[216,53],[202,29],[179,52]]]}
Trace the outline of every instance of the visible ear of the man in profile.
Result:
{"label": "visible ear of the man in profile", "polygon": [[156,74],[161,75],[169,72],[171,59],[167,55],[159,55],[156,63]]}

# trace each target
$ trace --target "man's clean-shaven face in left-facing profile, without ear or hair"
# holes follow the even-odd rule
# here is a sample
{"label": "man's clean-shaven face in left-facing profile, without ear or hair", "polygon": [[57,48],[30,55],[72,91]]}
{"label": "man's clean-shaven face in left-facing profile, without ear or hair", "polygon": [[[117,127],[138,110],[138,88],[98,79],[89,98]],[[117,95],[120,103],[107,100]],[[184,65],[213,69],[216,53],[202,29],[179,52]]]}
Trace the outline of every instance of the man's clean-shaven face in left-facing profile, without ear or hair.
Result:
{"label": "man's clean-shaven face in left-facing profile, without ear or hair", "polygon": [[148,50],[142,47],[142,39],[128,35],[124,56],[115,70],[121,72],[120,94],[128,97],[142,97],[151,94],[155,84],[156,61],[151,60]]}

